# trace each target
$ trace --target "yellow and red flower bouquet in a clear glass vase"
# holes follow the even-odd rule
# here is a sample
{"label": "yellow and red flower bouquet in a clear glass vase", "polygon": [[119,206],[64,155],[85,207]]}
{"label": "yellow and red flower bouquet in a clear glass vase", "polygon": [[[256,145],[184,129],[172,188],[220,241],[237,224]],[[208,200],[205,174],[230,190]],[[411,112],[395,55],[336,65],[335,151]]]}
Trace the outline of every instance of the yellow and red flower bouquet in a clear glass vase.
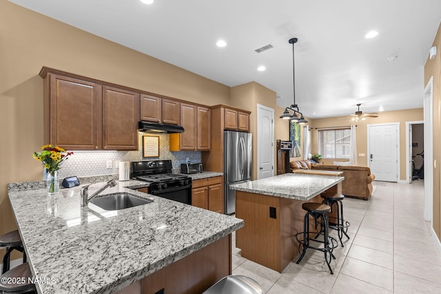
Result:
{"label": "yellow and red flower bouquet in a clear glass vase", "polygon": [[58,191],[57,171],[61,168],[61,164],[68,159],[68,156],[74,154],[72,151],[54,145],[41,146],[41,152],[34,151],[34,158],[41,161],[43,167],[48,171],[48,193],[54,194]]}

